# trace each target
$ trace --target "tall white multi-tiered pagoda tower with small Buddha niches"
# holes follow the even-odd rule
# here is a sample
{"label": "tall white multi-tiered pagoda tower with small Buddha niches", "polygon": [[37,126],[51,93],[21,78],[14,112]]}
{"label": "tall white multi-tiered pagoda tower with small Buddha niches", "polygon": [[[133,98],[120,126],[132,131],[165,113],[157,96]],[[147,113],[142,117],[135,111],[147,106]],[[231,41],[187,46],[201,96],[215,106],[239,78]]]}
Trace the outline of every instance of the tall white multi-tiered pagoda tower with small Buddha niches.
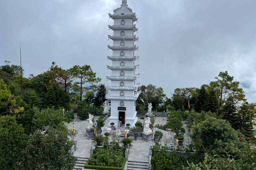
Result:
{"label": "tall white multi-tiered pagoda tower with small Buddha niches", "polygon": [[[108,26],[113,30],[113,36],[108,35],[108,38],[113,40],[113,46],[108,45],[109,49],[113,50],[113,56],[107,56],[112,60],[112,66],[107,65],[107,68],[112,70],[112,75],[107,76],[111,80],[111,86],[107,86],[111,93],[106,97],[111,101],[111,116],[110,123],[114,122],[117,126],[117,120],[122,121],[122,125],[127,123],[134,127],[137,122],[136,117],[136,99],[139,96],[137,89],[139,83],[136,83],[139,74],[135,74],[139,65],[135,65],[138,56],[134,56],[134,51],[138,49],[134,45],[138,41],[134,32],[138,29],[134,22],[137,21],[135,13],[128,7],[127,0],[122,0],[120,8],[114,10],[114,14],[109,14],[109,17],[114,20],[113,26]],[[110,126],[110,125],[109,125]]]}

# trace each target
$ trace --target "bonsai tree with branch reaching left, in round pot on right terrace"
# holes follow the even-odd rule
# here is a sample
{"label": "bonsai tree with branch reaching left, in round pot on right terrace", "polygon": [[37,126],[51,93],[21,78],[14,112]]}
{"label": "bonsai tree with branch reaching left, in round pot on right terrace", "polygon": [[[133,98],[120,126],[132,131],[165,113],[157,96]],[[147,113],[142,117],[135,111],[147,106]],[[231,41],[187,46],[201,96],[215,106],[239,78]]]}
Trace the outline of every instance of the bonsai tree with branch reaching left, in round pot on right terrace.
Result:
{"label": "bonsai tree with branch reaching left, in round pot on right terrace", "polygon": [[181,120],[176,117],[169,118],[166,125],[157,124],[156,128],[175,133],[176,135],[174,137],[178,137],[179,140],[184,139],[183,134],[185,133],[185,129],[182,127]]}

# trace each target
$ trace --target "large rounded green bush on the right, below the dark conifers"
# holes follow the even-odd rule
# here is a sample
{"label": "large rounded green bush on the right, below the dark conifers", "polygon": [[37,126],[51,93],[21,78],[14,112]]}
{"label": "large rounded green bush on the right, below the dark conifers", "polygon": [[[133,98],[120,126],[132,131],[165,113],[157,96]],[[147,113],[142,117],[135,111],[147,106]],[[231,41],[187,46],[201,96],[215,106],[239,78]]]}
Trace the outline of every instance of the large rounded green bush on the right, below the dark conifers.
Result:
{"label": "large rounded green bush on the right, below the dark conifers", "polygon": [[204,149],[211,154],[224,154],[225,151],[235,153],[241,142],[238,133],[226,123],[213,117],[191,127],[190,136],[193,142],[201,143]]}

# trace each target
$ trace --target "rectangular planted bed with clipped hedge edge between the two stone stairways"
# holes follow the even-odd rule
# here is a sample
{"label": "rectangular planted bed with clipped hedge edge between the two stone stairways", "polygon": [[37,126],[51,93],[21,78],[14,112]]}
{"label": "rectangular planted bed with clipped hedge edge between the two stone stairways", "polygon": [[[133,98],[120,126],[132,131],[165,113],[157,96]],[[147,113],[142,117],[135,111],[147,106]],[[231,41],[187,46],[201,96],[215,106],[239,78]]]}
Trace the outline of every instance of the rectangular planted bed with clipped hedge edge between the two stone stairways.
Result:
{"label": "rectangular planted bed with clipped hedge edge between the two stone stairways", "polygon": [[88,165],[121,167],[124,154],[124,147],[95,148]]}

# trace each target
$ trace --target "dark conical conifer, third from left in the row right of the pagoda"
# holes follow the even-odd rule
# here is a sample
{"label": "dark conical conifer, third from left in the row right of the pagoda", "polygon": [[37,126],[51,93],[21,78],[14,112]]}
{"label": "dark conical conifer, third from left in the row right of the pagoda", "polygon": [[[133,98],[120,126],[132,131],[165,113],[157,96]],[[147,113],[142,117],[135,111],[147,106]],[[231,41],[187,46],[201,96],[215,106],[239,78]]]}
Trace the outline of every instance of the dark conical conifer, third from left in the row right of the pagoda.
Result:
{"label": "dark conical conifer, third from left in the row right of the pagoda", "polygon": [[225,105],[223,106],[223,119],[226,121],[230,121],[234,119],[236,112],[235,102],[232,96],[229,96]]}

